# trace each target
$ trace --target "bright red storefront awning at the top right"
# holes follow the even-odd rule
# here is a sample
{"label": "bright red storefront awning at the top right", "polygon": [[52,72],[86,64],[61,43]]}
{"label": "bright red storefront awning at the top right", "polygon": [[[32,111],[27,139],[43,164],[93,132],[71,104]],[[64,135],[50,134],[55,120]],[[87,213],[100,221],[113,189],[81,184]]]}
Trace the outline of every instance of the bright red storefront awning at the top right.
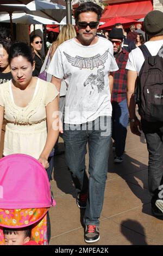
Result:
{"label": "bright red storefront awning at the top right", "polygon": [[130,19],[141,19],[145,17],[149,11],[153,10],[153,4],[151,0],[146,1],[134,1],[118,4],[109,4],[101,17],[101,21],[108,21],[110,18],[127,17]]}

